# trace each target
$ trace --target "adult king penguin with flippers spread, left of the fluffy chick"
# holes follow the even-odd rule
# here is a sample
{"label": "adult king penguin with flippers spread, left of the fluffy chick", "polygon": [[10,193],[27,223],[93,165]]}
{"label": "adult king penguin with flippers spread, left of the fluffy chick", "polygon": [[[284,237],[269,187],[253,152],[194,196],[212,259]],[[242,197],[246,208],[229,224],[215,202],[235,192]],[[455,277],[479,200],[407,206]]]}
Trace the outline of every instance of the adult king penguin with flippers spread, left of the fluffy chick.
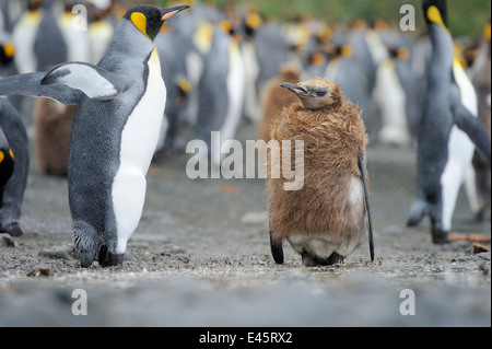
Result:
{"label": "adult king penguin with flippers spread, left of the fluffy chick", "polygon": [[0,94],[78,104],[68,185],[73,241],[82,267],[122,264],[140,220],[149,170],[165,107],[165,85],[153,46],[163,23],[188,9],[139,5],[119,22],[97,66],[67,62],[47,73],[0,80]]}

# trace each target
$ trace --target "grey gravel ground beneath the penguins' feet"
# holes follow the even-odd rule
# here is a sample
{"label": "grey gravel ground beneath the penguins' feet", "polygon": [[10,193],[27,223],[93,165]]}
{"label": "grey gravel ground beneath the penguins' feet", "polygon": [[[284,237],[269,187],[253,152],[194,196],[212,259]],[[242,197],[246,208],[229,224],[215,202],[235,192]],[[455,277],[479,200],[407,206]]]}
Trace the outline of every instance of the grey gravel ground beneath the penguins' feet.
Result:
{"label": "grey gravel ground beneath the penguins' feet", "polygon": [[[431,244],[427,220],[405,226],[413,151],[368,149],[375,261],[364,242],[343,264],[312,268],[286,243],[273,263],[263,179],[191,181],[187,160],[153,163],[124,266],[87,269],[71,249],[67,181],[33,163],[25,234],[0,247],[0,326],[491,326],[490,252]],[[453,232],[490,236],[471,218],[460,193]]]}

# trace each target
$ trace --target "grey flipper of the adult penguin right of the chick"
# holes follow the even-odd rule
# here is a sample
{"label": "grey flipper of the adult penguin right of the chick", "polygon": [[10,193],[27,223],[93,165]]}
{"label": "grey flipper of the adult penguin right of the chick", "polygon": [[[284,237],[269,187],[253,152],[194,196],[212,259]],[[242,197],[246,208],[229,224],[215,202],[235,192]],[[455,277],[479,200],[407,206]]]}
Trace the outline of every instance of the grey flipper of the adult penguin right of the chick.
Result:
{"label": "grey flipper of the adult penguin right of the chick", "polygon": [[453,119],[456,126],[468,135],[477,149],[485,158],[489,168],[491,168],[491,139],[479,119],[461,104],[457,85],[450,88],[449,101]]}

